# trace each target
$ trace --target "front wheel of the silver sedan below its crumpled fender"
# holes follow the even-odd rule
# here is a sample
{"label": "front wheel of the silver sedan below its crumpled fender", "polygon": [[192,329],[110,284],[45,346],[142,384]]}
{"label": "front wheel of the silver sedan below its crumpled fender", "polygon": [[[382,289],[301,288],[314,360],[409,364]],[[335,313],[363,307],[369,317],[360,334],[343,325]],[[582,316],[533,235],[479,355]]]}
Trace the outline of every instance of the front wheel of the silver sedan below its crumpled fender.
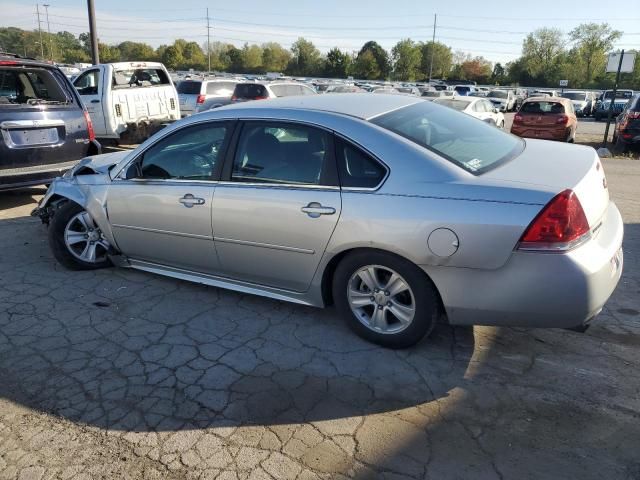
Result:
{"label": "front wheel of the silver sedan below its crumpled fender", "polygon": [[[54,212],[48,235],[53,256],[70,270],[95,270],[111,266],[107,256],[108,242],[89,214],[75,202],[65,202]],[[67,245],[67,239],[70,245]],[[89,260],[92,248],[94,261]],[[83,260],[85,251],[87,255]]]}

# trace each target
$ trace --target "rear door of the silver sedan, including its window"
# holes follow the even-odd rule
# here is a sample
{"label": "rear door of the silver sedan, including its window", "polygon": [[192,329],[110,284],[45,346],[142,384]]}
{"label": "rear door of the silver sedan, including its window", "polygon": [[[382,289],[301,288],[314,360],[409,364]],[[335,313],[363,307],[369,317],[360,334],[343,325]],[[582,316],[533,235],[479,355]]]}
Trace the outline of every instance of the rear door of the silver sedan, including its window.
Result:
{"label": "rear door of the silver sedan, including its window", "polygon": [[341,210],[332,143],[330,133],[302,124],[243,126],[213,204],[225,276],[309,288]]}

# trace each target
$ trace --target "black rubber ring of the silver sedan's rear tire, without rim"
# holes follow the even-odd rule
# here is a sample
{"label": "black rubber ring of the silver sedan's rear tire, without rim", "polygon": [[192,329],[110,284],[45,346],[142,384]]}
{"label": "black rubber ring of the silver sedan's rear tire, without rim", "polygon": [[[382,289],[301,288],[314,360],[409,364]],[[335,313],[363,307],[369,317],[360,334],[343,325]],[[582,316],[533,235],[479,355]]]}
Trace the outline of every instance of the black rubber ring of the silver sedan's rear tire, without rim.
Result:
{"label": "black rubber ring of the silver sedan's rear tire, without rim", "polygon": [[[397,333],[376,332],[361,323],[351,310],[347,295],[349,281],[358,270],[368,265],[394,270],[409,285],[415,302],[415,315],[404,330]],[[365,340],[383,347],[407,348],[415,345],[431,333],[440,316],[439,297],[427,275],[408,260],[380,250],[358,251],[342,259],[334,273],[332,289],[336,309],[347,325]]]}

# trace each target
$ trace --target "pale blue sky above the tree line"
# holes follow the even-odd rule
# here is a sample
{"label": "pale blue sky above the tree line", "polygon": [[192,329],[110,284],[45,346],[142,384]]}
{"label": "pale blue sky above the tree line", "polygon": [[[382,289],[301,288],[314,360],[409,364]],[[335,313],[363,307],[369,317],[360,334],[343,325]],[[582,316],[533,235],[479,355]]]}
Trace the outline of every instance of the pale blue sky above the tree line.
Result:
{"label": "pale blue sky above the tree line", "polygon": [[[637,0],[634,0],[637,1]],[[51,30],[87,31],[85,0],[49,0]],[[607,21],[625,35],[621,48],[640,48],[640,10],[615,8],[602,0],[95,0],[98,35],[106,43],[143,41],[154,47],[176,38],[206,42],[206,8],[212,41],[242,45],[278,41],[289,46],[298,37],[322,51],[338,46],[358,50],[367,40],[390,49],[402,38],[430,40],[438,14],[436,39],[492,62],[508,62],[521,52],[526,34],[539,27],[569,32],[583,22]],[[633,2],[631,2],[633,3]],[[0,26],[37,28],[35,2],[0,0]],[[628,17],[623,14],[629,13]],[[46,29],[44,8],[42,27]],[[636,15],[633,17],[633,15]]]}

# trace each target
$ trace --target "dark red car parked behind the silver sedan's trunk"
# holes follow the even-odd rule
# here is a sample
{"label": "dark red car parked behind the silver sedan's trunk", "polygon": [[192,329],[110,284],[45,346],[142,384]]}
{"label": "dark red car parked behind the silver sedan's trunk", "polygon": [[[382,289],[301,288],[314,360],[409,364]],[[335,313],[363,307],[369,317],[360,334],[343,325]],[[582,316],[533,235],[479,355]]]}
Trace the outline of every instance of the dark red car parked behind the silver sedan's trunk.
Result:
{"label": "dark red car parked behind the silver sedan's trunk", "polygon": [[571,100],[560,97],[527,98],[513,117],[511,133],[519,137],[573,143],[578,119]]}

